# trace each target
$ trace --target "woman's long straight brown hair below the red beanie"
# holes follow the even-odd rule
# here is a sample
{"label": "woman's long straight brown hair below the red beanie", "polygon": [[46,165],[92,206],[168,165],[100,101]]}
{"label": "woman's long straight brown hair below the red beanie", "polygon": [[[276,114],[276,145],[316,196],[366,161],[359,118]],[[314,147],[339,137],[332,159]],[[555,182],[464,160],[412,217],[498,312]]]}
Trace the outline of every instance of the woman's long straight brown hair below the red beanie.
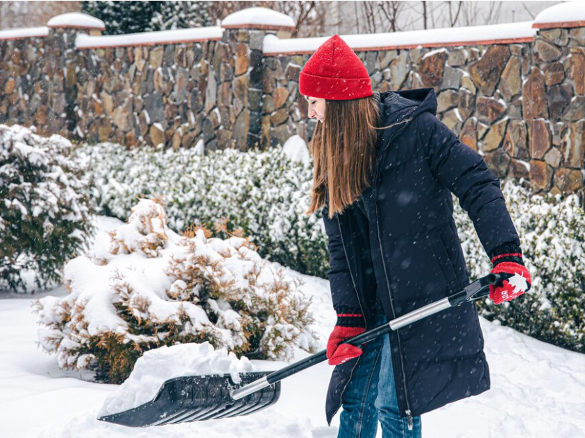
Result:
{"label": "woman's long straight brown hair below the red beanie", "polygon": [[312,214],[325,204],[329,218],[342,213],[372,183],[380,108],[378,91],[350,100],[327,100],[325,117],[317,123],[309,145],[313,157]]}

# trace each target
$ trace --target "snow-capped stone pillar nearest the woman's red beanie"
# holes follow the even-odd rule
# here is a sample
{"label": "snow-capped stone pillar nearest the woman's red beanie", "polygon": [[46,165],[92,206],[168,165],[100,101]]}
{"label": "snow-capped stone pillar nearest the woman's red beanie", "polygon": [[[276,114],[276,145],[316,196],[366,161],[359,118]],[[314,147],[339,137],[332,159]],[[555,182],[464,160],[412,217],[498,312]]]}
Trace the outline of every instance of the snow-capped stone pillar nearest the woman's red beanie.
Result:
{"label": "snow-capped stone pillar nearest the woman's red beanie", "polygon": [[233,143],[240,150],[257,148],[262,132],[264,36],[272,33],[290,37],[294,21],[274,10],[249,8],[228,15],[221,27],[224,29],[222,42],[229,46],[235,57],[231,80],[235,116]]}

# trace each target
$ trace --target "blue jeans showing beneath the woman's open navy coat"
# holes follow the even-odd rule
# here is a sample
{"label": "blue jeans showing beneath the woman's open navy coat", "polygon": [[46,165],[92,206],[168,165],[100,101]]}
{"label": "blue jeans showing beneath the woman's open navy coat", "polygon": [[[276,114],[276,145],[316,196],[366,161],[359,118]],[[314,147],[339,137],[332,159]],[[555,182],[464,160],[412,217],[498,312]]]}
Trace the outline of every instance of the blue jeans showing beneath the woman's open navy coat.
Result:
{"label": "blue jeans showing beneath the woman's open navy coat", "polygon": [[[376,315],[374,326],[384,322],[385,315]],[[378,421],[383,438],[421,438],[421,417],[412,417],[408,430],[406,417],[398,412],[389,336],[378,336],[362,350],[344,392],[337,438],[375,438]]]}

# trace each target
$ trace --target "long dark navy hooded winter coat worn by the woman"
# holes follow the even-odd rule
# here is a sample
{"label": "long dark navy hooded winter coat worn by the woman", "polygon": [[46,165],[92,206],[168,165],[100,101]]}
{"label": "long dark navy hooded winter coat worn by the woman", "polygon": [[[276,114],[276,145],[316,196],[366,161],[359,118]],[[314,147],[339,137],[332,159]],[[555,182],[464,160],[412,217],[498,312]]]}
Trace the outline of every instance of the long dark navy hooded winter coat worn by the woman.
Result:
{"label": "long dark navy hooded winter coat worn by the woman", "polygon": [[[334,308],[361,308],[372,328],[376,293],[394,319],[469,284],[453,220],[451,193],[473,220],[486,254],[520,245],[500,191],[482,157],[436,119],[432,88],[380,94],[382,125],[373,184],[342,214],[323,221]],[[486,272],[487,274],[487,272]],[[389,334],[402,417],[418,416],[490,387],[484,339],[473,302],[443,310]],[[328,423],[359,357],[337,365]]]}

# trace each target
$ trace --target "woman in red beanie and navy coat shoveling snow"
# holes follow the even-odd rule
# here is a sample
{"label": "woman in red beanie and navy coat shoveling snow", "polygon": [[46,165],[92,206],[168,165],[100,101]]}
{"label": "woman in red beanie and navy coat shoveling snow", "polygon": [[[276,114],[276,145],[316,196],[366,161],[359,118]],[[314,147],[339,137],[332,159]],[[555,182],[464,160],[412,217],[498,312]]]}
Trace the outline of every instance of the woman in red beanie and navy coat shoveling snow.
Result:
{"label": "woman in red beanie and navy coat shoveling snow", "polygon": [[328,423],[343,405],[338,437],[420,437],[421,414],[490,386],[475,304],[443,310],[383,339],[344,340],[469,284],[452,197],[473,220],[492,272],[496,304],[530,288],[520,240],[482,157],[436,119],[432,88],[379,93],[364,64],[334,35],[300,73],[317,119],[312,202],[329,238],[337,324],[327,357]]}

